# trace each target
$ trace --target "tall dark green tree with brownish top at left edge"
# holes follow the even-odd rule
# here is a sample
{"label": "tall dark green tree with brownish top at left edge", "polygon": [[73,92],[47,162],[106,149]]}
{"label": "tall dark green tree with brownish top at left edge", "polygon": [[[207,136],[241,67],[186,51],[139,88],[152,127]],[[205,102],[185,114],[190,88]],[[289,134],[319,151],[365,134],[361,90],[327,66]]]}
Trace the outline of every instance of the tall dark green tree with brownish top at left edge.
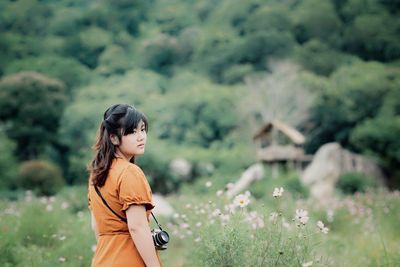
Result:
{"label": "tall dark green tree with brownish top at left edge", "polygon": [[17,144],[20,159],[36,158],[57,143],[56,132],[67,100],[64,84],[36,72],[20,72],[0,81],[0,121]]}

